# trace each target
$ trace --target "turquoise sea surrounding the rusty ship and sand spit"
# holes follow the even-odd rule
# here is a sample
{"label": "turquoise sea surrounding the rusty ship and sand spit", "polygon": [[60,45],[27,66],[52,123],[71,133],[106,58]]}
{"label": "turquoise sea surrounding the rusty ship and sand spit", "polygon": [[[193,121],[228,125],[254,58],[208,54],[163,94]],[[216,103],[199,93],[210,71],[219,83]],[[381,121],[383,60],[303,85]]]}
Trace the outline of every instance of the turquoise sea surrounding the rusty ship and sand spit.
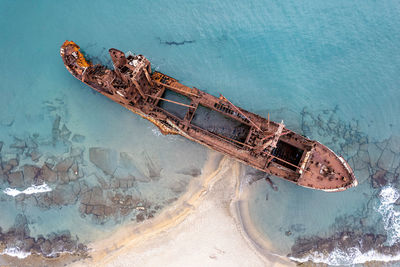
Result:
{"label": "turquoise sea surrounding the rusty ship and sand spit", "polygon": [[85,253],[174,205],[209,159],[70,75],[59,50],[73,40],[108,66],[109,48],[143,54],[348,160],[359,185],[338,193],[241,166],[245,227],[265,253],[396,266],[399,14],[394,0],[1,0],[0,263]]}

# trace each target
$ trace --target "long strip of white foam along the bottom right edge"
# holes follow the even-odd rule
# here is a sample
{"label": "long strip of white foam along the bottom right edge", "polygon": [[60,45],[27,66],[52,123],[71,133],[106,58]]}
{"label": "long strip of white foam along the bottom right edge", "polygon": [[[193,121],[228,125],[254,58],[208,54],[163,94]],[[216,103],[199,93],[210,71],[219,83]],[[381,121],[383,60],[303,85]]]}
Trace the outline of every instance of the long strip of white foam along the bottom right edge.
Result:
{"label": "long strip of white foam along the bottom right edge", "polygon": [[320,252],[314,252],[311,255],[307,255],[303,258],[289,257],[293,261],[307,262],[312,261],[314,263],[325,263],[333,266],[340,265],[353,265],[363,264],[370,261],[398,261],[400,260],[400,254],[397,255],[384,255],[375,250],[370,250],[366,253],[362,253],[358,248],[349,248],[346,251],[341,249],[335,249],[329,255],[324,255]]}

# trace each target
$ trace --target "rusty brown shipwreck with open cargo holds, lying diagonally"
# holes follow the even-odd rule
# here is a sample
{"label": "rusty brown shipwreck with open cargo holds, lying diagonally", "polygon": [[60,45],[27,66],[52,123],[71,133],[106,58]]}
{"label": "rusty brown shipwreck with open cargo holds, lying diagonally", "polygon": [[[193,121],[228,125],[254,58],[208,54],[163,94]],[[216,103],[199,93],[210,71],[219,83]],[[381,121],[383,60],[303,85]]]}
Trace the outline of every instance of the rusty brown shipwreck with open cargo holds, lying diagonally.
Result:
{"label": "rusty brown shipwreck with open cargo holds, lying diagonally", "polygon": [[357,185],[343,157],[285,128],[283,122],[152,71],[142,55],[125,55],[113,48],[109,53],[113,70],[91,64],[72,41],[65,41],[60,49],[73,76],[151,121],[163,134],[179,134],[299,186],[335,192]]}

